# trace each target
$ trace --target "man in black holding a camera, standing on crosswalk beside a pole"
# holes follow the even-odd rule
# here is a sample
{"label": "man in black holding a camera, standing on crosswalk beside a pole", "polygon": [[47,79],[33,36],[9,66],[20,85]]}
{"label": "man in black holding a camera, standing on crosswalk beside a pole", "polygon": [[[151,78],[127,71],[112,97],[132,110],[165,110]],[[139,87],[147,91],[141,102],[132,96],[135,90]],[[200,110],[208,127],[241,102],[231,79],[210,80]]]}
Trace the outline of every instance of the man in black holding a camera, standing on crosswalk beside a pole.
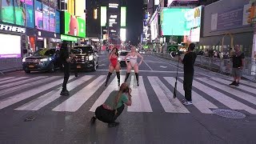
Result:
{"label": "man in black holding a camera, standing on crosswalk beside a pole", "polygon": [[178,56],[178,61],[184,64],[184,80],[183,80],[183,90],[185,91],[185,98],[182,100],[184,105],[192,105],[192,82],[194,77],[194,62],[197,58],[197,54],[193,52],[195,47],[194,43],[190,43],[188,47],[188,52],[182,59]]}

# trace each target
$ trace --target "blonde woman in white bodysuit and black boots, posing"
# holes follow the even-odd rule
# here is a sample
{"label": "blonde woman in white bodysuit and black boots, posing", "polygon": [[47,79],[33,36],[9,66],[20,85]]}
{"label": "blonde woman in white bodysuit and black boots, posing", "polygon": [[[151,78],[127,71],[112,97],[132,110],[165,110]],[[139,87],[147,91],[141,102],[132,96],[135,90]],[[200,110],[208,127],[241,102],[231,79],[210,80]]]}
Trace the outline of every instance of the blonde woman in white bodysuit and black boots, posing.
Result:
{"label": "blonde woman in white bodysuit and black boots, posing", "polygon": [[[130,57],[130,62],[129,63],[127,62],[127,59],[126,59],[127,57]],[[138,57],[141,58],[141,62],[139,62],[139,63],[137,62],[137,58]],[[139,54],[136,51],[136,47],[132,46],[130,53],[128,53],[126,55],[126,58],[125,59],[126,59],[127,72],[126,72],[125,82],[129,78],[130,70],[133,68],[134,71],[135,71],[135,75],[136,75],[137,86],[139,86],[139,82],[138,82],[138,66],[140,66],[142,64],[143,57],[142,57],[141,54]]]}

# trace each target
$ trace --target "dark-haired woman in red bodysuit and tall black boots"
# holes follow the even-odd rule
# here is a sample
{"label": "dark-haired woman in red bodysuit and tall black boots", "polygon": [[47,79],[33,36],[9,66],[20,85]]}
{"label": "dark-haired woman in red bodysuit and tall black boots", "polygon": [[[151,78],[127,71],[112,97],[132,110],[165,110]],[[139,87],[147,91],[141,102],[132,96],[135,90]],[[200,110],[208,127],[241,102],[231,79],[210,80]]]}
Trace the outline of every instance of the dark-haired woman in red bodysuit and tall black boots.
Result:
{"label": "dark-haired woman in red bodysuit and tall black boots", "polygon": [[109,66],[109,74],[107,74],[105,86],[107,82],[110,80],[110,76],[115,70],[118,78],[118,86],[120,86],[120,64],[118,62],[118,49],[114,47],[109,55],[110,66]]}

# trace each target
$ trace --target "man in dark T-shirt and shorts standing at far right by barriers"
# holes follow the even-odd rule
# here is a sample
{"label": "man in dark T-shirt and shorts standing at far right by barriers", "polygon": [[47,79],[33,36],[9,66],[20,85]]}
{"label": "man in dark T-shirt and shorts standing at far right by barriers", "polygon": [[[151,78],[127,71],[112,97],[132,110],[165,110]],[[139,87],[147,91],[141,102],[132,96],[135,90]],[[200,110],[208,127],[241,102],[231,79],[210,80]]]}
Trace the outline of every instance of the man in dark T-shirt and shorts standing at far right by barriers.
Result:
{"label": "man in dark T-shirt and shorts standing at far right by barriers", "polygon": [[239,86],[239,82],[242,77],[242,69],[245,66],[245,54],[240,50],[240,46],[234,46],[234,54],[231,56],[233,63],[232,75],[234,81],[230,83],[230,86]]}

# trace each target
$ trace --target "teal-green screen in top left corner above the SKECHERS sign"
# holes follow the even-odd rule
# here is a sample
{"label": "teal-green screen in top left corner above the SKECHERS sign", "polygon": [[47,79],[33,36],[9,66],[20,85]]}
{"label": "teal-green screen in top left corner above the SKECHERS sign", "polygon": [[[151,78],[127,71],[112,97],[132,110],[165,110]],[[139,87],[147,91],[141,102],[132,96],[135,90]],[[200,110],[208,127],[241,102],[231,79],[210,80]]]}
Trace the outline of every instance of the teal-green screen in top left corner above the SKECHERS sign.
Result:
{"label": "teal-green screen in top left corner above the SKECHERS sign", "polygon": [[14,24],[14,2],[13,1],[2,0],[2,22],[8,22],[8,23]]}

